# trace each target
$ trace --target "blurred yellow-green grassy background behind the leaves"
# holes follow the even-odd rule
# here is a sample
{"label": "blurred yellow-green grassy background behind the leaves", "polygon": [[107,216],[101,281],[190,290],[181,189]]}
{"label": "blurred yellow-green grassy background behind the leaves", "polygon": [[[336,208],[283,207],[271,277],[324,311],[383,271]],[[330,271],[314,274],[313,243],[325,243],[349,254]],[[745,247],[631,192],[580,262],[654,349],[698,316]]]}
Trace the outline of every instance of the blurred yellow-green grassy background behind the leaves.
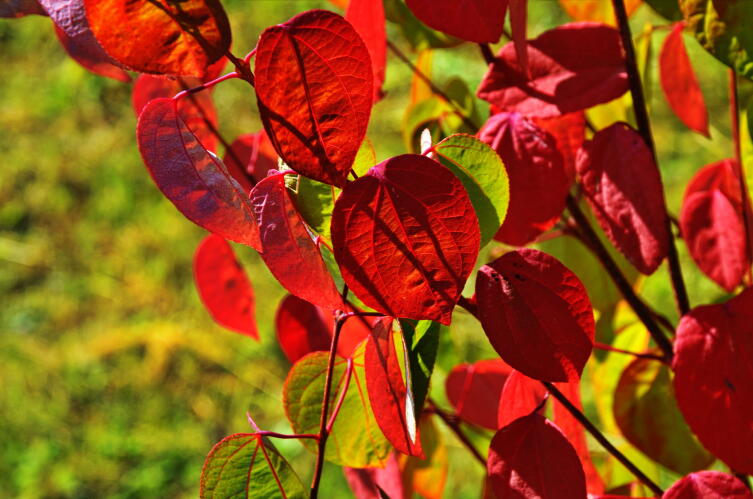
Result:
{"label": "blurred yellow-green grassy background behind the leaves", "polygon": [[[266,26],[306,9],[333,8],[303,0],[223,4],[237,55]],[[556,2],[531,2],[531,35],[565,20]],[[648,21],[666,24],[641,7],[635,29]],[[415,59],[396,26],[388,33]],[[654,56],[664,33],[655,35]],[[697,44],[688,46],[709,104],[711,141],[670,114],[655,57],[649,79],[674,213],[690,175],[732,154],[726,70]],[[289,365],[273,329],[284,292],[253,250],[235,246],[255,287],[261,341],[216,326],[191,275],[204,232],[159,193],[142,165],[131,86],[78,66],[43,17],[0,20],[0,56],[0,497],[195,497],[206,453],[222,437],[249,431],[246,411],[265,429],[288,429],[281,385]],[[460,76],[475,89],[484,70],[472,45],[434,57],[440,84]],[[387,97],[376,105],[369,132],[380,160],[405,151],[400,125],[410,71],[390,57],[387,74]],[[260,129],[244,82],[222,84],[215,101],[225,137]],[[693,303],[721,297],[680,246]],[[662,269],[643,289],[676,317],[667,283]],[[495,354],[462,313],[441,348],[432,391],[447,407],[449,369]],[[588,401],[587,410],[594,413]],[[445,496],[478,497],[483,470],[451,434],[445,443]],[[308,481],[312,456],[293,441],[279,447]],[[671,475],[656,473],[671,482]],[[349,495],[334,466],[322,490],[325,497]]]}

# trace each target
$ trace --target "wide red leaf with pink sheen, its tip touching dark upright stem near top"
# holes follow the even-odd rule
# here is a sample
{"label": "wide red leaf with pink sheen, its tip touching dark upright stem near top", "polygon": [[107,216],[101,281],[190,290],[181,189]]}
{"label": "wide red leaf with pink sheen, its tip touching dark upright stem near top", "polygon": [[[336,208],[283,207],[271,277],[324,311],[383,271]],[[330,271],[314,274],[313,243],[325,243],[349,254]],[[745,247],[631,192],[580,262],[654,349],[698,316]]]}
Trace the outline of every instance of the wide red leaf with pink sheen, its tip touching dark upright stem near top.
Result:
{"label": "wide red leaf with pink sheen, its tip touching dark upright stem near top", "polygon": [[550,117],[616,99],[628,90],[620,34],[598,23],[571,23],[528,41],[530,77],[514,44],[499,51],[478,96],[502,111]]}

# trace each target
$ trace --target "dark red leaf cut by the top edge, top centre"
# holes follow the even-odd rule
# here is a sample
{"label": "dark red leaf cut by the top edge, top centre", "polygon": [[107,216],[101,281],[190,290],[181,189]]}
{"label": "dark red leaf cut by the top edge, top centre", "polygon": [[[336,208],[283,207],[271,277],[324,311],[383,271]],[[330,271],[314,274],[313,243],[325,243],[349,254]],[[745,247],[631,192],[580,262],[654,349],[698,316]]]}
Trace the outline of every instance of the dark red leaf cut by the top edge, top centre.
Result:
{"label": "dark red leaf cut by the top edge, top centre", "polygon": [[406,0],[427,26],[476,43],[497,43],[505,26],[507,0]]}

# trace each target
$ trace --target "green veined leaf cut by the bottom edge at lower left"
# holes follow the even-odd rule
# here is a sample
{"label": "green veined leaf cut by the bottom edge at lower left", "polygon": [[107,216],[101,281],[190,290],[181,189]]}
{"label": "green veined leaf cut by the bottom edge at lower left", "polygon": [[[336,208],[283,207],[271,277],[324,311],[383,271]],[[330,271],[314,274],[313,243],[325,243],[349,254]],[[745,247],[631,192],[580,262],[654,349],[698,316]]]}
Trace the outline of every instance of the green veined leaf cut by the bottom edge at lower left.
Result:
{"label": "green veined leaf cut by the bottom edge at lower left", "polygon": [[308,497],[308,493],[269,439],[255,433],[236,433],[209,451],[201,472],[199,497],[293,499]]}

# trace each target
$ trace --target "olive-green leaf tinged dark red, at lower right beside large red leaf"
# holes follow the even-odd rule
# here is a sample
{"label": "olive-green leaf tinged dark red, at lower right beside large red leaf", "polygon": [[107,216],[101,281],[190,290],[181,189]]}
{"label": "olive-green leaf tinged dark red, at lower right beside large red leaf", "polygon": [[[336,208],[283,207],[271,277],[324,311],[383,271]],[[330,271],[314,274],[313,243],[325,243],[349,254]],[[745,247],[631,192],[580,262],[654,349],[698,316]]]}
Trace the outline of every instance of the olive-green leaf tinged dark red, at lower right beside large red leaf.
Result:
{"label": "olive-green leaf tinged dark red, at lower right beside large red leaf", "polygon": [[706,468],[714,456],[693,437],[675,401],[669,368],[635,359],[614,394],[614,418],[630,443],[680,474]]}

